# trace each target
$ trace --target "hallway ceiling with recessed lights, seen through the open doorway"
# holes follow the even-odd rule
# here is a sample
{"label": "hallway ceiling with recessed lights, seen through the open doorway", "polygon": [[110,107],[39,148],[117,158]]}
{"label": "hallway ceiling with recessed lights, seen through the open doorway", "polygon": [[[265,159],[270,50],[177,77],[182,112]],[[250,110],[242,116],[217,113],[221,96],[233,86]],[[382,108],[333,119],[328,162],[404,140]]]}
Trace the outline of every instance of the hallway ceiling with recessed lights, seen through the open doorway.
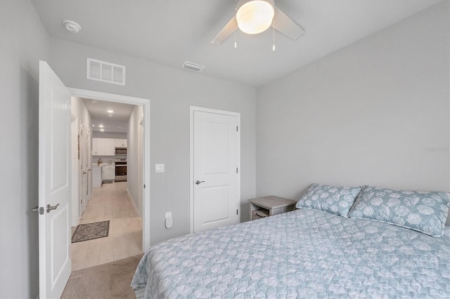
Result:
{"label": "hallway ceiling with recessed lights, seen through the open doorway", "polygon": [[[119,102],[107,102],[101,100],[79,99],[84,102],[91,114],[93,131],[101,131],[99,125],[103,125],[103,130],[109,133],[127,133],[128,120],[133,112],[134,105],[122,104]],[[108,113],[113,110],[113,113]],[[112,117],[108,117],[111,114]]]}

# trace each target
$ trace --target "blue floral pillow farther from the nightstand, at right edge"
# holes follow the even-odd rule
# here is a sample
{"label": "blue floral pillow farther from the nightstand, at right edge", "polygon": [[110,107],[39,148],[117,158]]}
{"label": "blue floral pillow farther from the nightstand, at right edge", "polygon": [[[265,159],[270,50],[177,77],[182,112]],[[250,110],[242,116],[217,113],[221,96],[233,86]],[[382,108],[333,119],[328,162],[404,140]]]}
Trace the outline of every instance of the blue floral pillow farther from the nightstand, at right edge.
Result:
{"label": "blue floral pillow farther from the nightstand, at right edge", "polygon": [[449,206],[450,194],[446,192],[365,187],[348,216],[385,222],[430,234],[432,237],[441,237],[449,215]]}

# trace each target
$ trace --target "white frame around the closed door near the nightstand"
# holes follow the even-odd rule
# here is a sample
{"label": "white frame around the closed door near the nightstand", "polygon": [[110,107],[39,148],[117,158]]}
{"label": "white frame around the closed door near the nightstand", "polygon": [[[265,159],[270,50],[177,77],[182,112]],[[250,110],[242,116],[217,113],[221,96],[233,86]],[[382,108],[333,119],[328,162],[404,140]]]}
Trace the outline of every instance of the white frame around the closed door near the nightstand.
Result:
{"label": "white frame around the closed door near the nightstand", "polygon": [[[208,112],[208,113],[214,113],[214,114],[224,114],[229,115],[231,117],[237,118],[238,128],[239,128],[239,135],[237,140],[237,147],[238,147],[238,180],[237,180],[237,194],[238,194],[238,204],[240,206],[240,113],[239,112],[231,112],[226,110],[219,110],[219,109],[212,109],[212,108],[205,108],[205,107],[198,107],[198,106],[190,106],[189,111],[189,119],[190,119],[190,128],[189,128],[189,148],[190,148],[190,160],[189,160],[189,227],[190,227],[190,233],[192,234],[194,232],[194,112]],[[239,211],[242,211],[242,208],[239,208]]]}

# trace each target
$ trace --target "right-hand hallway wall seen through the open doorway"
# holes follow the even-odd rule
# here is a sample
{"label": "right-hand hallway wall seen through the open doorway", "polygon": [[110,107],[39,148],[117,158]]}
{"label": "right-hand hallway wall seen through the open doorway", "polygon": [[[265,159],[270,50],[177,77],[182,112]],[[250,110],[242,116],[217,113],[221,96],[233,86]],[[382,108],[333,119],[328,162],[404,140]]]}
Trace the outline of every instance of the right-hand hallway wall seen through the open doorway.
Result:
{"label": "right-hand hallway wall seen through the open doorway", "polygon": [[[143,171],[142,164],[142,136],[140,134],[139,123],[143,119],[143,107],[134,106],[133,112],[128,121],[128,147],[127,147],[127,181],[128,192],[133,199],[139,215],[142,216],[142,192],[139,192],[142,188],[142,176]],[[140,173],[141,172],[141,173]]]}

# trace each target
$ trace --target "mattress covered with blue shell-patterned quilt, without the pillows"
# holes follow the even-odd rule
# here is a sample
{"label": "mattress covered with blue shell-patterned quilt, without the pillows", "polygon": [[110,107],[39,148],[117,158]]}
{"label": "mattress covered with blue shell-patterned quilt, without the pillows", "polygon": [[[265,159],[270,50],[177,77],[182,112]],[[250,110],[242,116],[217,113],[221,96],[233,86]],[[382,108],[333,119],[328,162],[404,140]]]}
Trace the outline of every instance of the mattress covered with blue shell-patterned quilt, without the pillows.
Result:
{"label": "mattress covered with blue shell-patterned quilt, without the pillows", "polygon": [[449,298],[450,238],[299,209],[163,241],[139,298]]}

